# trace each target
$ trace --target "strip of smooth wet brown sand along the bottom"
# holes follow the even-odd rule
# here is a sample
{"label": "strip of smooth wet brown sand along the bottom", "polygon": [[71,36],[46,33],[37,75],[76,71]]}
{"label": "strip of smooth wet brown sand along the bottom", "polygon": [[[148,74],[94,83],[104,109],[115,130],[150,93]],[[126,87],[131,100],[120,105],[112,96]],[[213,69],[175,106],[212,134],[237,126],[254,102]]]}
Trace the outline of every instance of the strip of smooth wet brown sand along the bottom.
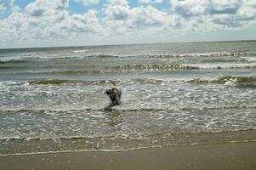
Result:
{"label": "strip of smooth wet brown sand along the bottom", "polygon": [[0,156],[0,169],[254,170],[255,160],[256,143],[249,142]]}

